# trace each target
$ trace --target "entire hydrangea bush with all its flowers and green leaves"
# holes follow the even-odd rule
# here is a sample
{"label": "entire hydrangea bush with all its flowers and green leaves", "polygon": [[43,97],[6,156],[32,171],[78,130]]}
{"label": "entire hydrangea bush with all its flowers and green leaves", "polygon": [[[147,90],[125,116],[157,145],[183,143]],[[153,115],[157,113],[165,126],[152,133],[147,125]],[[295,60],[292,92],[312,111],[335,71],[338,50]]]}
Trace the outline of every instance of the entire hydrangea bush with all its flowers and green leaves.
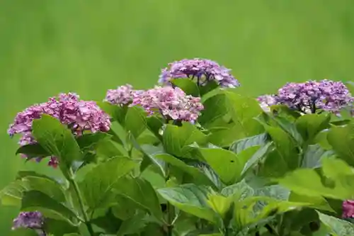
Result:
{"label": "entire hydrangea bush with all its flowers and green leaves", "polygon": [[[59,94],[18,113],[18,172],[0,192],[18,235],[354,235],[352,82],[237,94],[230,70],[181,60],[159,84]],[[44,160],[43,160],[44,159]]]}

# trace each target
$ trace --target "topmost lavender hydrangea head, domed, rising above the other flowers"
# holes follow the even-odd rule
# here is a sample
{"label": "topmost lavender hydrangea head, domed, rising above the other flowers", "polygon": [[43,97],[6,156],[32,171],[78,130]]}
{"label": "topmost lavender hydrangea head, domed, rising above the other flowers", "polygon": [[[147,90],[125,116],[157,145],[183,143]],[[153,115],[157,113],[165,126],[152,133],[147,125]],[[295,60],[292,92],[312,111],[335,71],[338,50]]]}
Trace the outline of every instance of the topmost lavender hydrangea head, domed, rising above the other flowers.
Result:
{"label": "topmost lavender hydrangea head, domed, rising above the other flowers", "polygon": [[161,70],[159,83],[171,85],[171,79],[189,78],[195,79],[199,86],[205,86],[207,82],[214,80],[222,87],[234,88],[239,86],[239,81],[230,74],[227,69],[212,60],[194,58],[172,62]]}

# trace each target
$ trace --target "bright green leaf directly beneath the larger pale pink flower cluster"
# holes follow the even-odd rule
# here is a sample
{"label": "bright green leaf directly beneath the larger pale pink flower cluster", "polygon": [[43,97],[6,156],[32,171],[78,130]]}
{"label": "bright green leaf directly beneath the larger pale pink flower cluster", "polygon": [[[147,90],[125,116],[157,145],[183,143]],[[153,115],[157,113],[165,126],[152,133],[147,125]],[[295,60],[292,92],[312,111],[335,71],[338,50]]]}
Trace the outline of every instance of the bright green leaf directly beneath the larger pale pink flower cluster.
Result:
{"label": "bright green leaf directly beneath the larger pale pink flower cluster", "polygon": [[177,157],[185,157],[185,153],[192,148],[187,147],[193,144],[205,144],[207,135],[203,134],[195,125],[185,122],[181,127],[166,125],[163,134],[164,149],[167,153]]}

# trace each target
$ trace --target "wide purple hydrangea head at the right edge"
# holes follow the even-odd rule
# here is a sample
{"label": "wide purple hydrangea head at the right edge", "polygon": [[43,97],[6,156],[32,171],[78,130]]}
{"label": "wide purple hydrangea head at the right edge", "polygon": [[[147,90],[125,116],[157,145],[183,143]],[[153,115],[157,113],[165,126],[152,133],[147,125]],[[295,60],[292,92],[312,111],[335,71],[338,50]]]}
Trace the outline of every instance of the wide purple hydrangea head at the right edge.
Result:
{"label": "wide purple hydrangea head at the right edge", "polygon": [[342,82],[324,79],[319,82],[285,84],[278,90],[275,101],[303,113],[315,113],[317,110],[338,113],[353,102],[353,97]]}

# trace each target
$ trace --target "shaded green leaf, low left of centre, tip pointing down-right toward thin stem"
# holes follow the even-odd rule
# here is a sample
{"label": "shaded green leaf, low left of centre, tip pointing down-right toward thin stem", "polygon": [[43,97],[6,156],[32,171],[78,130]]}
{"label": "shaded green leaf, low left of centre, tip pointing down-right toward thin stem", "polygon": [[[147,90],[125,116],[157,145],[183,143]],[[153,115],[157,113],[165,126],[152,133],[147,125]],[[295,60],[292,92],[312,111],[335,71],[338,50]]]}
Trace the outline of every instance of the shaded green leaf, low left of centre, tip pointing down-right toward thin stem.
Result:
{"label": "shaded green leaf, low left of centre, tip pointing down-right toward thin stem", "polygon": [[149,181],[140,178],[122,178],[115,184],[114,192],[148,210],[157,219],[162,219],[159,199]]}

